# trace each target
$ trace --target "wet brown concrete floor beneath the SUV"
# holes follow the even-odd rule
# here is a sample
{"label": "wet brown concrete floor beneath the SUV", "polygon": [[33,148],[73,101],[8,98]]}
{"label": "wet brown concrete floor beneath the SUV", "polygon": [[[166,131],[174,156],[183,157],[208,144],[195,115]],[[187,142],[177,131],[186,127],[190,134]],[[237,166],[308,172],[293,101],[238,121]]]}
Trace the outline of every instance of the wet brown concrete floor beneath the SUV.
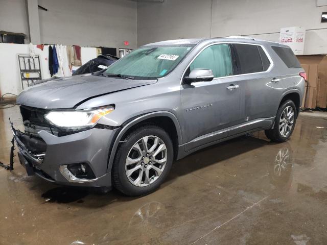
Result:
{"label": "wet brown concrete floor beneath the SUV", "polygon": [[[0,110],[0,161],[12,138]],[[282,159],[282,160],[281,160]],[[97,194],[0,168],[0,244],[327,244],[327,119],[300,115],[288,142],[263,132],[174,163],[142,198]]]}

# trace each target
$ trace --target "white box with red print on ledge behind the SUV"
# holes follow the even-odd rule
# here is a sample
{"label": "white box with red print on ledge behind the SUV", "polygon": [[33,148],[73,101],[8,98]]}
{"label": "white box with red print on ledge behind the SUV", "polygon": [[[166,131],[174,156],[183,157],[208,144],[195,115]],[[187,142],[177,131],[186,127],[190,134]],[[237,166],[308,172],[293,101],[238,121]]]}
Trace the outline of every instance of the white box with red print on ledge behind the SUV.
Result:
{"label": "white box with red print on ledge behind the SUV", "polygon": [[281,28],[279,42],[292,48],[295,55],[303,55],[305,50],[306,29],[302,27]]}

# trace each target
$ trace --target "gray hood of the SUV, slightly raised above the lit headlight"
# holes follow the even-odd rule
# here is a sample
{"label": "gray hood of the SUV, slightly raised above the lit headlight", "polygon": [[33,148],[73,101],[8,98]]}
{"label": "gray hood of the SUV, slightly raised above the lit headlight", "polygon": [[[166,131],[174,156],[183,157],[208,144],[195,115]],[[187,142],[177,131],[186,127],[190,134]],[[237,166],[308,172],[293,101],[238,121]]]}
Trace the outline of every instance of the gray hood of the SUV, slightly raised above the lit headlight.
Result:
{"label": "gray hood of the SUV, slightly raised above the lit headlight", "polygon": [[[73,108],[101,95],[156,83],[157,80],[127,80],[85,74],[44,80],[22,91],[17,104],[43,108]],[[113,104],[113,102],[108,102]]]}

